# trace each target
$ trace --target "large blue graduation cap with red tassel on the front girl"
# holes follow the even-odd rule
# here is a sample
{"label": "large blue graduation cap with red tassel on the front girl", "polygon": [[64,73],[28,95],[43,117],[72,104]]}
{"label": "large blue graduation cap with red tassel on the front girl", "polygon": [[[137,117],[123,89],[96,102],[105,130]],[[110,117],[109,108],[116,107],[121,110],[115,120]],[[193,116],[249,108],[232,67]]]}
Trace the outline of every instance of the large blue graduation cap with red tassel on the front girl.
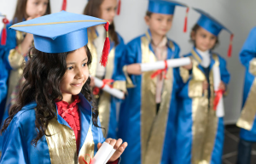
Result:
{"label": "large blue graduation cap with red tassel on the front girl", "polygon": [[10,26],[16,31],[33,34],[35,48],[44,53],[65,53],[82,48],[88,42],[87,28],[105,24],[106,41],[102,51],[102,65],[106,66],[109,52],[108,21],[84,14],[61,11]]}

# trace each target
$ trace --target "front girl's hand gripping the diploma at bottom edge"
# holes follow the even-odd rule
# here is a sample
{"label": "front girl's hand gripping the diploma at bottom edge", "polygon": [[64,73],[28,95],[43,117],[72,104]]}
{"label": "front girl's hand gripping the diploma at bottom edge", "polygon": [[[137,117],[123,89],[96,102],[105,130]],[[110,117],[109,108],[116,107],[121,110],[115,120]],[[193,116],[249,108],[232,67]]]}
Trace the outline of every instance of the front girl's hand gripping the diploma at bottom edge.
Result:
{"label": "front girl's hand gripping the diploma at bottom edge", "polygon": [[[127,143],[123,143],[123,140],[122,139],[118,139],[118,140],[115,140],[115,139],[106,139],[105,141],[106,143],[110,144],[113,146],[113,149],[115,149],[116,151],[113,153],[113,156],[110,158],[109,161],[116,161],[121,155],[122,153],[124,152],[125,148],[127,147]],[[122,144],[123,143],[123,144]],[[101,148],[102,146],[102,143],[99,143],[97,145],[98,147],[98,150]]]}

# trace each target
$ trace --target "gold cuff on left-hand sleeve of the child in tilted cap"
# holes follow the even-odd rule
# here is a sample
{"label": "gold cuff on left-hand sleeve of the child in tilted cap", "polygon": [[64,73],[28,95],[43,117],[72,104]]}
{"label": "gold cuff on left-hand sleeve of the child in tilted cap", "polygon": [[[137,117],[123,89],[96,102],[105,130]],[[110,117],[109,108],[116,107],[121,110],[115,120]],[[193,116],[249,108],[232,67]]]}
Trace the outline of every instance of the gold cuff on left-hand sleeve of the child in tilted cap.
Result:
{"label": "gold cuff on left-hand sleeve of the child in tilted cap", "polygon": [[191,80],[189,82],[189,97],[190,98],[201,97],[202,93],[203,93],[202,82]]}

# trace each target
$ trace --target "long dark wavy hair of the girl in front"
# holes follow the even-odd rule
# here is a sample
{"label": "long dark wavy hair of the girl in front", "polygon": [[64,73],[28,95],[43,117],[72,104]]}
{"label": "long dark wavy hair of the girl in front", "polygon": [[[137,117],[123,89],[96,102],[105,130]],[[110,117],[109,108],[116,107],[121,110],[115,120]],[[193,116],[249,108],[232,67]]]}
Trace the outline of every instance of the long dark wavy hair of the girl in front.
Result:
{"label": "long dark wavy hair of the girl in front", "polygon": [[[90,66],[92,56],[87,46],[85,49],[88,57],[87,64]],[[4,121],[1,133],[7,129],[9,123],[23,106],[36,101],[35,124],[38,136],[32,140],[32,144],[37,145],[38,140],[45,135],[49,121],[56,118],[55,100],[62,99],[61,79],[67,71],[66,59],[69,53],[49,54],[38,51],[36,48],[30,50],[30,59],[23,71],[26,81],[20,88],[16,104],[11,106],[9,110],[9,117]],[[81,93],[89,102],[92,102],[92,122],[96,127],[99,127],[97,124],[98,110],[90,91],[90,77],[84,83]]]}

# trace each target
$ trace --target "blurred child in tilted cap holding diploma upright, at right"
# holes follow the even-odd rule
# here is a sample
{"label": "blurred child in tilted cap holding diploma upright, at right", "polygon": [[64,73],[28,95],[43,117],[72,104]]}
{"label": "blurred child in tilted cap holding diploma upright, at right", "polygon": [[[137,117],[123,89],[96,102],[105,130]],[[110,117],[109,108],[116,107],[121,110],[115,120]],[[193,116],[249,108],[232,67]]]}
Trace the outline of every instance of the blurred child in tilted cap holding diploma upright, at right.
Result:
{"label": "blurred child in tilted cap holding diploma upright, at right", "polygon": [[[180,68],[183,89],[179,93],[177,127],[177,164],[222,162],[224,144],[223,117],[213,107],[216,89],[227,90],[230,73],[225,60],[212,49],[218,44],[218,33],[223,25],[209,14],[195,9],[201,18],[191,31],[194,48],[189,54],[191,65]],[[230,31],[229,31],[230,32]],[[231,33],[231,32],[230,32]],[[221,82],[213,88],[213,68],[219,67]]]}

